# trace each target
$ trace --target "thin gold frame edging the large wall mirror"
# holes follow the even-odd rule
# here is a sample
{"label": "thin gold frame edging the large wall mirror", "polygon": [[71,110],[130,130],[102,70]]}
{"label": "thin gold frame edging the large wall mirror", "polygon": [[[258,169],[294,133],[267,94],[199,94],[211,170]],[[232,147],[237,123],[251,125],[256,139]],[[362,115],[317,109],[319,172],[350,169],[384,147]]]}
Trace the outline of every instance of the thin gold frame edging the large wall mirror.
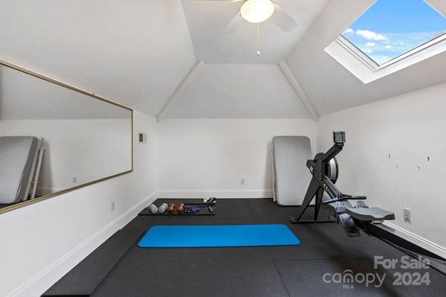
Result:
{"label": "thin gold frame edging the large wall mirror", "polygon": [[82,94],[84,94],[86,96],[89,96],[91,98],[98,99],[98,100],[101,100],[103,102],[107,102],[107,103],[112,104],[112,105],[116,105],[116,106],[121,107],[123,109],[128,109],[128,111],[130,111],[130,120],[131,120],[130,141],[132,142],[132,144],[130,146],[131,147],[131,167],[132,168],[130,170],[127,170],[125,172],[121,172],[121,173],[118,173],[118,174],[112,174],[111,176],[105,176],[103,178],[99,178],[99,179],[96,179],[94,181],[89,181],[87,183],[82,183],[80,185],[75,185],[74,187],[70,187],[70,188],[66,188],[66,189],[60,190],[60,191],[52,192],[50,194],[43,195],[41,197],[37,197],[37,198],[31,199],[31,200],[17,202],[17,204],[13,204],[13,205],[10,205],[10,206],[5,206],[3,208],[0,208],[0,214],[1,213],[6,213],[8,211],[13,211],[13,210],[15,210],[17,208],[22,208],[22,207],[28,206],[30,204],[34,204],[36,202],[40,202],[40,201],[46,200],[48,198],[52,198],[52,197],[55,197],[55,196],[58,196],[58,195],[63,195],[63,194],[66,194],[68,192],[77,190],[79,188],[84,188],[86,186],[93,185],[93,183],[100,183],[101,181],[106,181],[107,179],[115,178],[116,176],[121,176],[123,174],[128,174],[130,172],[133,172],[133,109],[131,109],[129,107],[126,107],[124,105],[121,105],[121,104],[119,104],[117,102],[114,102],[112,100],[108,100],[106,98],[97,96],[97,95],[95,95],[95,93],[91,93],[89,91],[85,91],[85,90],[79,89],[79,88],[77,88],[75,86],[72,86],[70,84],[59,82],[56,79],[52,79],[51,77],[47,77],[45,75],[41,75],[40,73],[36,73],[33,70],[29,70],[27,68],[23,68],[21,66],[17,66],[17,65],[15,65],[13,63],[9,63],[8,61],[4,61],[2,59],[0,59],[0,65],[6,66],[8,68],[15,69],[15,70],[18,70],[18,71],[20,71],[22,73],[26,73],[28,75],[32,75],[33,77],[37,77],[38,79],[43,79],[46,82],[49,82],[49,83],[52,83],[52,84],[56,84],[58,86],[62,86],[63,88],[70,89],[70,90],[78,92],[78,93],[82,93]]}

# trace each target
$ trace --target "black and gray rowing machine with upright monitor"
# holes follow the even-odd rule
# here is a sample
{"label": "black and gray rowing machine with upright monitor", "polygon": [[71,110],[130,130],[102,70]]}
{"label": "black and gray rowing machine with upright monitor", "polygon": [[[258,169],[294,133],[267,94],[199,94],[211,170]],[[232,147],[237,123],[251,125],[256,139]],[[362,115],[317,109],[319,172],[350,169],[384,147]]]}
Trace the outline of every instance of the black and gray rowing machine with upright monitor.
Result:
{"label": "black and gray rowing machine with upright monitor", "polygon": [[[338,176],[337,160],[335,155],[342,151],[346,142],[345,132],[333,132],[333,146],[326,153],[318,153],[314,160],[307,160],[309,172],[313,175],[309,183],[304,201],[297,215],[291,218],[292,223],[300,222],[341,222],[341,225],[349,237],[360,236],[360,230],[369,236],[379,238],[381,241],[392,245],[394,248],[409,254],[411,257],[426,257],[430,259],[430,266],[446,274],[446,260],[443,257],[421,248],[409,239],[394,234],[392,229],[381,224],[383,220],[394,220],[395,215],[378,207],[367,206],[365,196],[351,196],[339,191],[334,185]],[[323,192],[327,192],[330,199],[322,201]],[[316,197],[314,207],[314,220],[300,220],[312,199]],[[348,200],[356,199],[357,205],[353,206]],[[318,213],[322,204],[334,204],[334,220],[318,220]]]}

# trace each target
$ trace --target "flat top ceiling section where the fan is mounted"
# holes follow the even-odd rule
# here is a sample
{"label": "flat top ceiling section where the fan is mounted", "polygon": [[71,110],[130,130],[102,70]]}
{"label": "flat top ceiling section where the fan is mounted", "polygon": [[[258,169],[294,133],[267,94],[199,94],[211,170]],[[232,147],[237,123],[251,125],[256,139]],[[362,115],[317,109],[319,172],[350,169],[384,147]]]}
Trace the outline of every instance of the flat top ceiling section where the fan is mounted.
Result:
{"label": "flat top ceiling section where the fan is mounted", "polygon": [[[241,17],[233,31],[226,26],[240,11],[242,1],[196,1],[182,0],[187,24],[197,60],[207,63],[256,63],[275,64],[284,61],[299,39],[312,25],[316,17],[327,6],[329,0],[273,0],[298,25],[290,31],[282,31],[270,20],[259,24],[259,46],[257,26]],[[261,55],[256,56],[260,50]]]}

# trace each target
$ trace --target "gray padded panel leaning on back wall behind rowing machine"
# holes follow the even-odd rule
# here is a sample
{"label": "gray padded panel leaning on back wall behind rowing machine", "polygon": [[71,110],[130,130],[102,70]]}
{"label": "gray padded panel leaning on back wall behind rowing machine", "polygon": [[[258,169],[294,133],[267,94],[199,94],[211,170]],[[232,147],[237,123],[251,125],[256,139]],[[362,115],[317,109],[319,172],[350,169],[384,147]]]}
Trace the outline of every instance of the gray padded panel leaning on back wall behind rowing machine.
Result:
{"label": "gray padded panel leaning on back wall behind rowing machine", "polygon": [[312,159],[309,138],[306,136],[273,137],[272,157],[277,204],[302,205],[312,179],[312,174],[307,168],[307,160]]}

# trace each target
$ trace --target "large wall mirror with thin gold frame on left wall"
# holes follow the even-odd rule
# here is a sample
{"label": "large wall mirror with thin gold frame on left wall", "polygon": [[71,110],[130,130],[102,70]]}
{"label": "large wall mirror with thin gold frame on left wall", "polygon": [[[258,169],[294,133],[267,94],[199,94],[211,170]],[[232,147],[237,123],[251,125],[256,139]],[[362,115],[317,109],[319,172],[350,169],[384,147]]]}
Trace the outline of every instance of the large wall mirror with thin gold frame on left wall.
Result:
{"label": "large wall mirror with thin gold frame on left wall", "polygon": [[[36,151],[35,197],[15,199],[26,174],[13,160],[22,148],[8,145],[25,136],[43,158]],[[132,109],[0,60],[0,213],[131,171]]]}

